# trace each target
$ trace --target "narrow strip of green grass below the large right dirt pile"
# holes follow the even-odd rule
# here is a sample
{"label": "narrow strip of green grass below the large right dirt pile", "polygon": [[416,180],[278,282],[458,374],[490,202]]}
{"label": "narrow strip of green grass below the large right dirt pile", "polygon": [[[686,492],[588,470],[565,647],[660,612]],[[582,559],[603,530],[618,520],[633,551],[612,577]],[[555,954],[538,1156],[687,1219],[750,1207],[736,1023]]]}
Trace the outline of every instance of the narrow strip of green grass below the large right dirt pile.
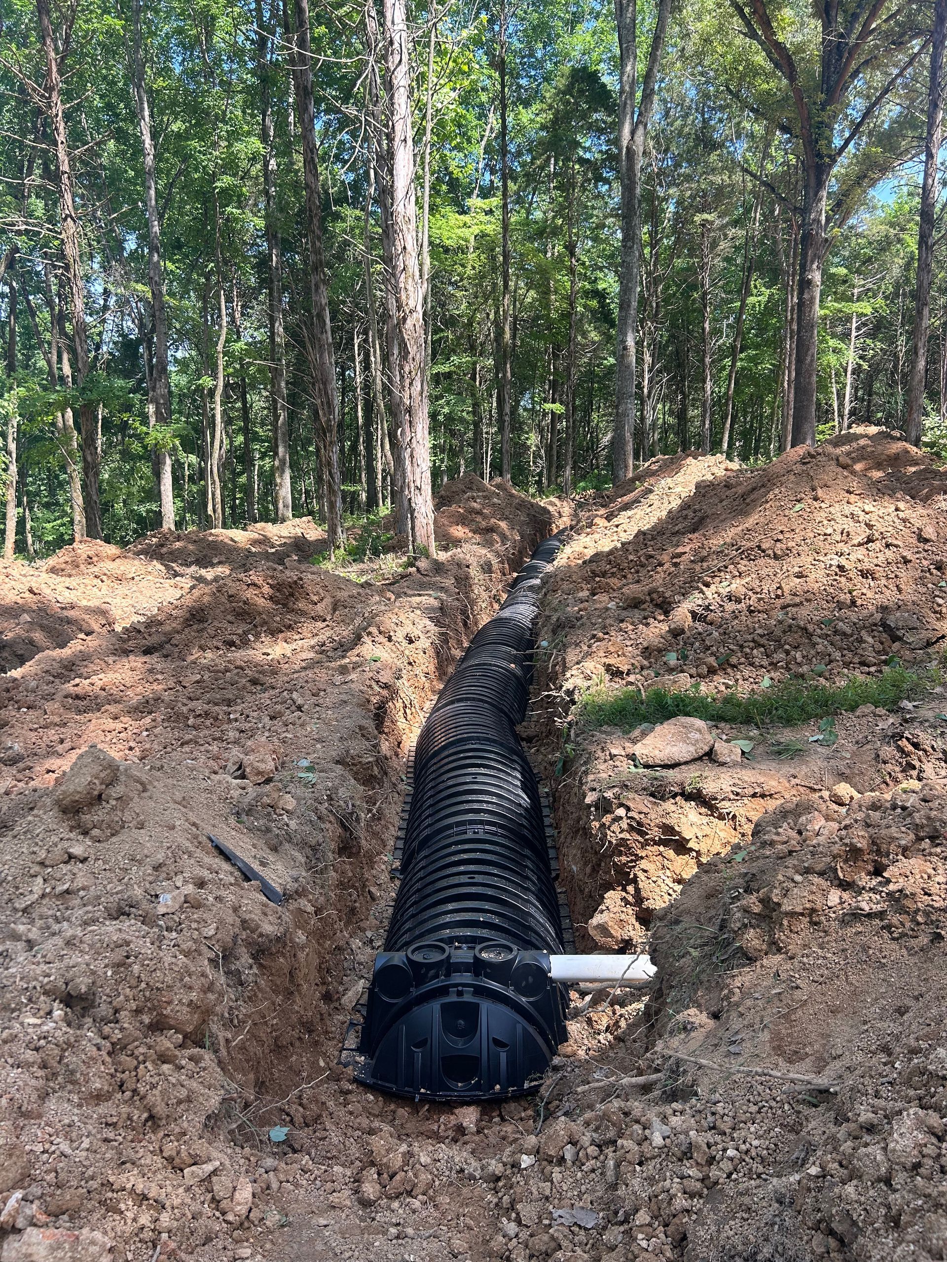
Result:
{"label": "narrow strip of green grass below the large right dirt pile", "polygon": [[795,727],[859,705],[896,709],[903,700],[920,700],[942,683],[939,666],[905,670],[889,666],[880,675],[852,675],[843,684],[823,684],[817,679],[785,679],[753,693],[729,692],[713,695],[694,684],[683,693],[652,688],[644,695],[635,688],[610,692],[593,688],[581,698],[576,721],[583,729],[619,727],[626,732],[639,723],[664,723],[687,714],[707,723]]}

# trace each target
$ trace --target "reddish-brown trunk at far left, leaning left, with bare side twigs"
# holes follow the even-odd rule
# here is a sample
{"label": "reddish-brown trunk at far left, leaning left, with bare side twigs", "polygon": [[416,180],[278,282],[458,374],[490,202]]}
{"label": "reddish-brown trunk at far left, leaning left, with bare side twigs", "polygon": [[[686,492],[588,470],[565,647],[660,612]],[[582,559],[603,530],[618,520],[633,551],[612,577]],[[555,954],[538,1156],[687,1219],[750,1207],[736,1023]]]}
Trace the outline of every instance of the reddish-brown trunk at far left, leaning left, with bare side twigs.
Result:
{"label": "reddish-brown trunk at far left, leaning left, with bare side twigs", "polygon": [[[56,52],[53,28],[49,20],[49,0],[37,0],[39,33],[45,56],[47,112],[53,129],[59,184],[59,217],[66,260],[66,278],[72,308],[72,345],[76,351],[76,375],[80,389],[90,372],[88,332],[86,327],[86,295],[82,284],[82,250],[76,216],[76,197],[72,179],[69,145],[66,134],[66,111],[62,100],[62,67]],[[90,403],[80,406],[82,425],[82,491],[86,534],[91,539],[102,538],[102,514],[98,502],[98,443],[96,422]]]}

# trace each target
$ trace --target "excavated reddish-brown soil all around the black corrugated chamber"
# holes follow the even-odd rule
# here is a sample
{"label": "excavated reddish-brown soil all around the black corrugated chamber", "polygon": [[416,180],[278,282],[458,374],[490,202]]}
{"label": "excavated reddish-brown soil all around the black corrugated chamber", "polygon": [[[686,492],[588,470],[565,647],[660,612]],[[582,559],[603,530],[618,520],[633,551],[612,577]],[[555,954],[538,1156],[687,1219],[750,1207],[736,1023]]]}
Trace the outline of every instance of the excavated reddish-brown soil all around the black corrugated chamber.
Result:
{"label": "excavated reddish-brown soil all around the black corrugated chamber", "polygon": [[[944,506],[855,432],[571,510],[524,734],[578,939],[659,986],[573,996],[503,1108],[337,1056],[410,734],[566,507],[467,477],[407,569],[309,564],[306,521],[6,567],[3,1262],[947,1258]],[[878,705],[798,721],[792,680],[849,673]],[[726,761],[638,766],[655,684]]]}

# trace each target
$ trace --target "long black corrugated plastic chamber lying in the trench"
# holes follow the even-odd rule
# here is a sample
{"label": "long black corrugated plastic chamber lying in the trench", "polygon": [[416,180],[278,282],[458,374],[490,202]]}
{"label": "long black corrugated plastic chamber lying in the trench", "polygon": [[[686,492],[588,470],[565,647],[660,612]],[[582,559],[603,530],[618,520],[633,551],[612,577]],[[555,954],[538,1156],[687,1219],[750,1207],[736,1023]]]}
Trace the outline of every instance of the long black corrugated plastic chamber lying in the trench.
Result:
{"label": "long black corrugated plastic chamber lying in the trench", "polygon": [[543,808],[516,733],[529,699],[544,540],[477,631],[414,748],[400,883],[375,959],[356,1078],[431,1099],[535,1089],[564,1039]]}

